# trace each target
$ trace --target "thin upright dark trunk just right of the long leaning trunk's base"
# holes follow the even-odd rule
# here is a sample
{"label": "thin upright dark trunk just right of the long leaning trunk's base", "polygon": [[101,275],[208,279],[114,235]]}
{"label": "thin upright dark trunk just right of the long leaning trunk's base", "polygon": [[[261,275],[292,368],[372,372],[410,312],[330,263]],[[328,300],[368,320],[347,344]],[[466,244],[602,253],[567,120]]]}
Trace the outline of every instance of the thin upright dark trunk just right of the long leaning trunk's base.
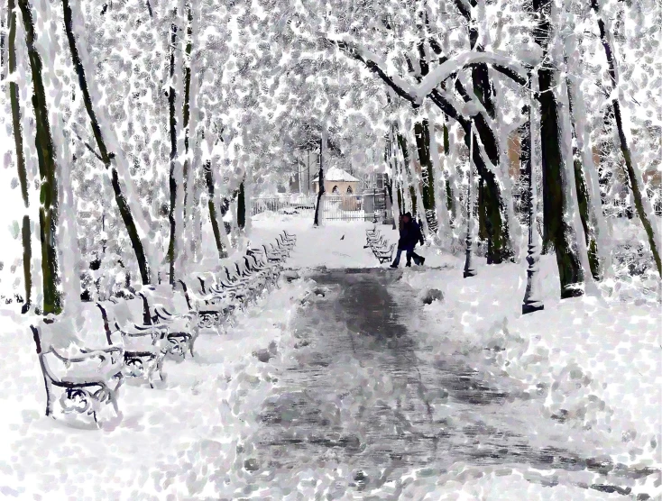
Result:
{"label": "thin upright dark trunk just right of the long leaning trunk's base", "polygon": [[168,91],[168,106],[170,112],[170,207],[168,221],[170,223],[170,242],[168,244],[168,262],[170,264],[170,284],[175,284],[175,246],[177,241],[177,111],[175,109],[175,48],[177,46],[177,26],[170,25],[170,89]]}

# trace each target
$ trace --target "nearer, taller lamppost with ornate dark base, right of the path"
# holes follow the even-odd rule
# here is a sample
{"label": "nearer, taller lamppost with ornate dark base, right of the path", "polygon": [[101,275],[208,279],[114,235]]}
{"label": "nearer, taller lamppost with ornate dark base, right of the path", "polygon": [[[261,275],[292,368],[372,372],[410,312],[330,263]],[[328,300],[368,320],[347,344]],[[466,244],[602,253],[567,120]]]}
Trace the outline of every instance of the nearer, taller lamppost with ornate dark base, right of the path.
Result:
{"label": "nearer, taller lamppost with ornate dark base, right of the path", "polygon": [[522,314],[537,312],[545,308],[540,296],[540,244],[538,232],[536,231],[536,213],[537,213],[537,187],[536,187],[536,167],[538,166],[538,108],[536,106],[535,93],[538,91],[537,83],[534,83],[532,74],[529,73],[529,159],[527,160],[527,172],[529,174],[529,251],[527,253],[527,290],[524,293],[522,303]]}

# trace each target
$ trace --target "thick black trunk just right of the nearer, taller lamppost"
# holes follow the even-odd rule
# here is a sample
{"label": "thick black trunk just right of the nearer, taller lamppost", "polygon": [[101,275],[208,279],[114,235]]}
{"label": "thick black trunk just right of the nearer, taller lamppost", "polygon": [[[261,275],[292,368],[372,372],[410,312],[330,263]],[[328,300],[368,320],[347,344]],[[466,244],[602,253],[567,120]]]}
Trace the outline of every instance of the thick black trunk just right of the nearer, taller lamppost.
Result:
{"label": "thick black trunk just right of the nearer, taller lamppost", "polygon": [[[536,41],[547,57],[552,29],[550,22],[552,0],[534,0],[533,5],[539,16],[535,32]],[[559,84],[559,77],[558,70],[550,65],[538,69],[544,239],[554,245],[561,282],[561,297],[565,298],[584,294],[584,269],[577,253],[575,228],[569,215],[572,211],[569,190],[574,187],[568,186],[567,170],[574,169],[574,166],[565,165],[563,157],[562,123],[559,116],[559,112],[563,113],[563,111],[554,92]]]}

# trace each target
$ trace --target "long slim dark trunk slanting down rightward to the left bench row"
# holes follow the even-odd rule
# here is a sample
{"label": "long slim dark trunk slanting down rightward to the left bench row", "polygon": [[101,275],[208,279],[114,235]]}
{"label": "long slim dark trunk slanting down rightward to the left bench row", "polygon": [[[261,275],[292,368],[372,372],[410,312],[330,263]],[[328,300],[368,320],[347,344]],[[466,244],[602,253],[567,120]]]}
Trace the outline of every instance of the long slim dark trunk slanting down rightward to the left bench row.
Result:
{"label": "long slim dark trunk slanting down rightward to the left bench row", "polygon": [[80,88],[80,91],[83,95],[83,103],[85,104],[87,116],[89,117],[89,121],[92,126],[92,132],[94,133],[95,141],[97,142],[99,156],[104,162],[106,171],[110,171],[111,184],[115,193],[115,203],[117,204],[117,209],[119,210],[122,221],[124,222],[126,232],[129,234],[129,240],[131,241],[133,253],[135,254],[135,258],[138,262],[138,269],[140,270],[143,285],[147,285],[152,281],[151,269],[145,256],[143,241],[138,234],[138,230],[133,219],[131,207],[127,204],[126,197],[122,191],[117,168],[115,167],[115,154],[109,151],[107,148],[106,140],[103,136],[103,133],[101,132],[101,126],[99,125],[97,114],[92,104],[89,87],[87,86],[85,68],[83,67],[83,62],[80,58],[80,53],[78,52],[78,45],[76,44],[76,37],[73,32],[73,14],[71,12],[69,0],[62,0],[62,9],[64,12],[64,26],[65,31],[67,32],[67,39],[69,41],[71,61],[74,68],[76,69],[76,74],[78,76],[78,87]]}

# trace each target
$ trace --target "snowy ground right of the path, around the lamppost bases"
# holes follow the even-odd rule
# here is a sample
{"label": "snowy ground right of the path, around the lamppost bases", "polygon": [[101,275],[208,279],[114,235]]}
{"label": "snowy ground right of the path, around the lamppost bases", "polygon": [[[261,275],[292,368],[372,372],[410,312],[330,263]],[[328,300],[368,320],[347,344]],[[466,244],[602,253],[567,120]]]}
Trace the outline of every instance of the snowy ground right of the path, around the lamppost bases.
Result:
{"label": "snowy ground right of the path, around the lamppost bases", "polygon": [[547,396],[543,412],[567,433],[591,431],[596,453],[614,462],[662,467],[662,313],[657,294],[635,303],[613,298],[558,299],[554,256],[541,260],[545,310],[521,314],[526,287],[521,264],[479,264],[478,276],[454,269],[411,269],[403,280],[416,290],[435,287],[442,302],[412,319],[458,351],[483,351],[494,371]]}

